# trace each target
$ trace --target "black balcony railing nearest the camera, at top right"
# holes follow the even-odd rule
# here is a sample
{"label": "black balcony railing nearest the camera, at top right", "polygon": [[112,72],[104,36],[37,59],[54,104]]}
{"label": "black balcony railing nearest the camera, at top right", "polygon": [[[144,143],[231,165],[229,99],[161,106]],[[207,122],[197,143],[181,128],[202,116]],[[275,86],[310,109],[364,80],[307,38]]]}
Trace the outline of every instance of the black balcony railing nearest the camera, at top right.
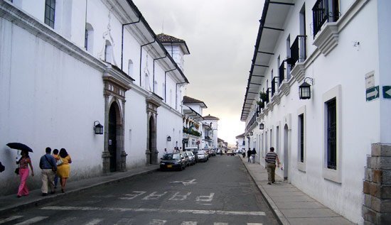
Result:
{"label": "black balcony railing nearest the camera, at top right", "polygon": [[[331,6],[329,6],[331,2]],[[314,38],[316,33],[321,31],[323,23],[326,21],[335,22],[339,18],[338,0],[318,0],[312,8],[312,17],[314,20]]]}

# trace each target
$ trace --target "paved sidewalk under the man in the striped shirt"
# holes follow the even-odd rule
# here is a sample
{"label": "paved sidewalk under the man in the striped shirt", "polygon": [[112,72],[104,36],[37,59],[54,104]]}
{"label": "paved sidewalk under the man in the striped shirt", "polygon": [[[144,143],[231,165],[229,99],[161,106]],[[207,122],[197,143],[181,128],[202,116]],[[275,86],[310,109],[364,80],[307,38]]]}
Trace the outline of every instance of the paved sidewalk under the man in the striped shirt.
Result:
{"label": "paved sidewalk under the man in the striped shirt", "polygon": [[276,182],[267,185],[264,166],[247,163],[247,158],[241,156],[240,159],[282,224],[353,224],[277,175]]}

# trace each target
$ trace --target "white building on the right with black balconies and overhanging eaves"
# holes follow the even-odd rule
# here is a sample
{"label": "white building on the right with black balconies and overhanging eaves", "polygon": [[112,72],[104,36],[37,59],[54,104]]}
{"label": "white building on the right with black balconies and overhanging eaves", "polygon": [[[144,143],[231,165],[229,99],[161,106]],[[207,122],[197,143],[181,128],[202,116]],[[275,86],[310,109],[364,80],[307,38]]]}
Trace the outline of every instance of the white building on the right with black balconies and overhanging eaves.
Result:
{"label": "white building on the right with black balconies and overhanging eaves", "polygon": [[273,146],[280,177],[358,224],[380,201],[363,184],[375,171],[368,155],[391,143],[390,9],[384,0],[266,0],[242,107],[259,158]]}

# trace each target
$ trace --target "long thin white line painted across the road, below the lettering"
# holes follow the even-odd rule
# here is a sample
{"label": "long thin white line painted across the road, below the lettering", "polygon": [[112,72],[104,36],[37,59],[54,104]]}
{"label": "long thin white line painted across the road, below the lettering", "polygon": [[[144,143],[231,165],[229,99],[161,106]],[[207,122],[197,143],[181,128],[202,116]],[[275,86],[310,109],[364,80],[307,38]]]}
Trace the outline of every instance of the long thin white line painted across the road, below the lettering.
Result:
{"label": "long thin white line painted across the road, below the lettering", "polygon": [[191,210],[191,209],[145,209],[145,208],[114,208],[114,207],[42,207],[44,210],[82,210],[82,211],[117,211],[117,212],[159,212],[159,213],[188,213],[188,214],[217,214],[217,215],[235,215],[235,216],[265,216],[262,211],[259,212],[235,212],[221,210]]}

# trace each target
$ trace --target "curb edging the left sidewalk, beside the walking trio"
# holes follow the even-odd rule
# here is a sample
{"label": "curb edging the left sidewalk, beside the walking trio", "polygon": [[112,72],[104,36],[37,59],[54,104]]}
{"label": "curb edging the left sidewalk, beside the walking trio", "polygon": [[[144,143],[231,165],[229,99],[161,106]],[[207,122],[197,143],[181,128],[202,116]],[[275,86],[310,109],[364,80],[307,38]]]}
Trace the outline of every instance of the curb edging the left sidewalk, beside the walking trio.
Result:
{"label": "curb edging the left sidewalk, beside the walking trio", "polygon": [[134,178],[134,177],[138,177],[138,176],[141,176],[141,175],[146,175],[146,174],[149,174],[149,173],[152,173],[152,172],[156,172],[158,170],[159,170],[159,168],[154,168],[154,169],[151,169],[151,170],[146,170],[146,171],[143,171],[143,172],[135,173],[135,174],[132,174],[132,175],[129,175],[129,176],[126,176],[126,177],[113,178],[112,180],[108,180],[108,181],[105,181],[105,182],[97,182],[94,185],[89,185],[89,186],[86,186],[86,187],[80,187],[80,188],[77,188],[75,190],[70,190],[68,192],[65,192],[64,194],[62,194],[62,193],[49,194],[46,197],[41,197],[41,199],[35,199],[35,200],[31,200],[29,202],[23,202],[23,203],[19,204],[18,206],[13,206],[13,207],[0,209],[0,215],[15,213],[18,210],[28,209],[30,207],[38,207],[40,205],[47,204],[48,202],[54,202],[55,200],[63,199],[63,198],[68,197],[70,195],[74,195],[74,194],[79,194],[79,193],[85,192],[87,190],[90,190],[93,187],[100,187],[100,186],[105,186],[105,185],[111,185],[111,184],[117,183],[117,182],[123,182],[125,180],[129,180],[129,179]]}

